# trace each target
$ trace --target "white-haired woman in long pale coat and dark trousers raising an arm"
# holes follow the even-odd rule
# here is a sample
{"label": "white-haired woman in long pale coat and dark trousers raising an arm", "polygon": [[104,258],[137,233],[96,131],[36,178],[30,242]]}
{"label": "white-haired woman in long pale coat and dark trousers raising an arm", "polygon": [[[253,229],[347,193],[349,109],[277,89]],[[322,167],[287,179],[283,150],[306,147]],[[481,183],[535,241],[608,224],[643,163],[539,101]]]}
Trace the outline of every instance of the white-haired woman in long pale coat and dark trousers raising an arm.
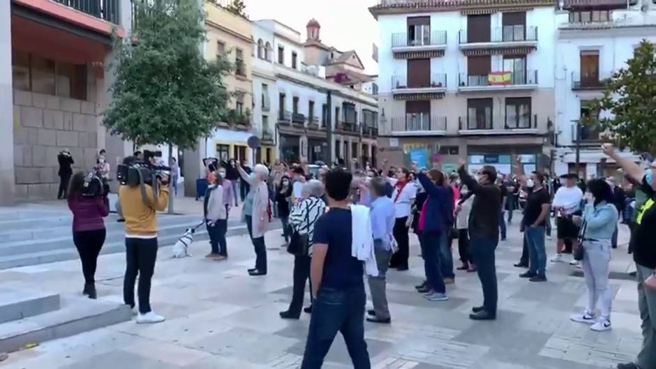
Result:
{"label": "white-haired woman in long pale coat and dark trousers raising an arm", "polygon": [[251,276],[264,276],[267,274],[267,246],[264,245],[264,232],[270,221],[269,188],[266,179],[269,170],[262,164],[255,165],[252,174],[246,173],[237,165],[239,175],[251,186],[251,192],[244,199],[244,218],[248,227],[248,234],[255,248],[255,268],[248,269]]}

